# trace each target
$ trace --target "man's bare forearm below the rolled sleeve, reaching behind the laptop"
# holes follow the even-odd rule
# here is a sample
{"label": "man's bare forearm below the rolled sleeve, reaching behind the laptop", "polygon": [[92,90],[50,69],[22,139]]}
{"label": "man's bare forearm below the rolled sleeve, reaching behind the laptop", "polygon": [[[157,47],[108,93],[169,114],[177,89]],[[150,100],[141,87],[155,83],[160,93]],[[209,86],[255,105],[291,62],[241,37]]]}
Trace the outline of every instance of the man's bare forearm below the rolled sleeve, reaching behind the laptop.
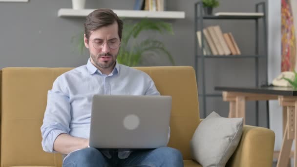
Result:
{"label": "man's bare forearm below the rolled sleeve, reaching behind the laptop", "polygon": [[54,150],[62,154],[69,154],[77,149],[89,146],[89,139],[73,137],[66,133],[60,134],[54,142]]}

